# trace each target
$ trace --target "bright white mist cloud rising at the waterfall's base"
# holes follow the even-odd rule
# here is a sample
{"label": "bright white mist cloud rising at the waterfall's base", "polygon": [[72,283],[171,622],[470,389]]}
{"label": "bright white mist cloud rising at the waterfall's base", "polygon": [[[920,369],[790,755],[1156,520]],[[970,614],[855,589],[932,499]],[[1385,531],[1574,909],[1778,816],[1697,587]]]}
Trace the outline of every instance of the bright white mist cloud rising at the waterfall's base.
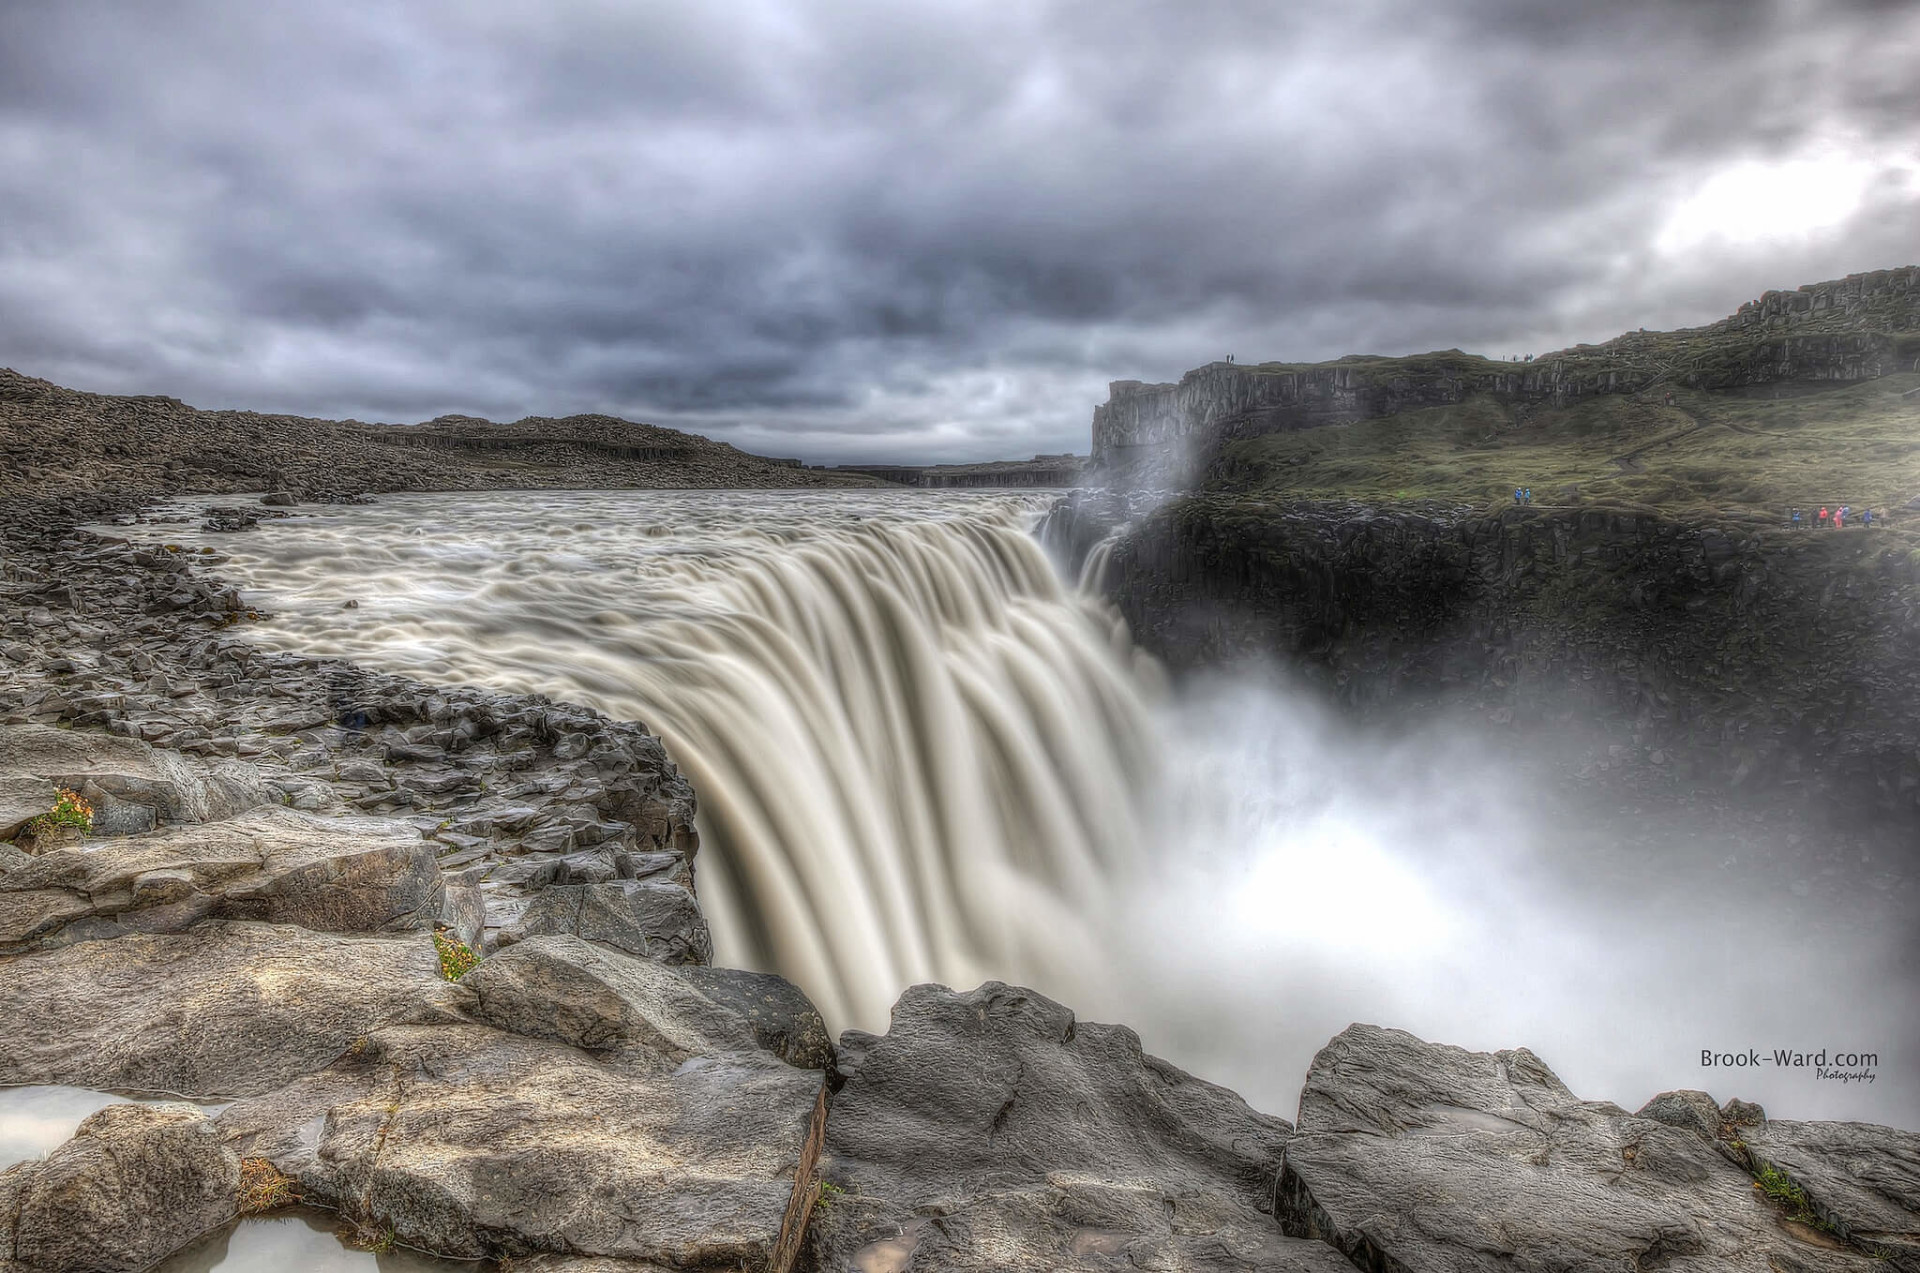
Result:
{"label": "bright white mist cloud rising at the waterfall's base", "polygon": [[[1626,1110],[1699,1089],[1920,1127],[1912,877],[1893,854],[1847,841],[1836,860],[1807,822],[1596,816],[1557,776],[1588,745],[1574,730],[1363,728],[1273,668],[1187,684],[1164,728],[1160,853],[1119,908],[1129,972],[1100,1008],[1256,1108],[1290,1116],[1313,1052],[1369,1021],[1530,1048]],[[1703,1048],[1878,1066],[1820,1081],[1703,1068]]]}

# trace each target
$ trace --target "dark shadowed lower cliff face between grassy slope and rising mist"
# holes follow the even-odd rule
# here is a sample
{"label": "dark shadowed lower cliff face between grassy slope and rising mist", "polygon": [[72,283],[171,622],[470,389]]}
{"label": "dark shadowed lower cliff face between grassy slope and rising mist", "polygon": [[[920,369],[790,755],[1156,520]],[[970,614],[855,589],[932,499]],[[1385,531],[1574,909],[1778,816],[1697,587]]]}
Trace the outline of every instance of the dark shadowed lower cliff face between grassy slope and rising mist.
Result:
{"label": "dark shadowed lower cliff face between grassy slope and rising mist", "polygon": [[1615,766],[1920,816],[1920,561],[1895,532],[1196,497],[1117,538],[1104,580],[1175,668],[1279,657],[1361,716],[1578,718]]}

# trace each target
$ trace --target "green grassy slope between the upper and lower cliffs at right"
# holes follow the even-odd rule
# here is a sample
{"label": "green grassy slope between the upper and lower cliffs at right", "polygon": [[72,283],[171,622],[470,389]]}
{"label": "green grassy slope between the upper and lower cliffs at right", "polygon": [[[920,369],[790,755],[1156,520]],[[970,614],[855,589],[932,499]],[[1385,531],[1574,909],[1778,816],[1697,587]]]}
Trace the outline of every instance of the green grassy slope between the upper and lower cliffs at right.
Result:
{"label": "green grassy slope between the upper and lower cliffs at right", "polygon": [[[1920,495],[1920,374],[1780,399],[1670,386],[1569,407],[1457,405],[1229,444],[1213,493],[1438,499],[1475,507],[1609,503],[1784,520],[1826,505],[1893,511]],[[1620,463],[1630,457],[1628,463]],[[1916,518],[1920,520],[1920,518]]]}

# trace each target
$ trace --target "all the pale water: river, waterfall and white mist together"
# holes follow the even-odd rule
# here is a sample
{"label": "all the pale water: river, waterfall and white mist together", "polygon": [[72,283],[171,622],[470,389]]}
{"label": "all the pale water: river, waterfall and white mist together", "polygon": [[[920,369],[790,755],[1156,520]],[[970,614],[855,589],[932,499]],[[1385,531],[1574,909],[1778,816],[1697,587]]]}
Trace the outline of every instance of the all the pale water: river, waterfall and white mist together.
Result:
{"label": "all the pale water: river, waterfall and white mist together", "polygon": [[[783,972],[835,1027],[883,1029],[914,981],[1000,977],[1281,1114],[1371,1020],[1532,1046],[1628,1108],[1705,1087],[1920,1117],[1887,998],[1905,868],[1849,862],[1824,891],[1832,868],[1778,845],[1626,808],[1569,824],[1469,732],[1382,741],[1248,682],[1173,701],[1056,580],[1027,534],[1046,503],[405,495],[167,538],[232,553],[282,614],[255,639],[662,733],[722,962]],[[1697,1068],[1788,1043],[1889,1060],[1876,1089]]]}

